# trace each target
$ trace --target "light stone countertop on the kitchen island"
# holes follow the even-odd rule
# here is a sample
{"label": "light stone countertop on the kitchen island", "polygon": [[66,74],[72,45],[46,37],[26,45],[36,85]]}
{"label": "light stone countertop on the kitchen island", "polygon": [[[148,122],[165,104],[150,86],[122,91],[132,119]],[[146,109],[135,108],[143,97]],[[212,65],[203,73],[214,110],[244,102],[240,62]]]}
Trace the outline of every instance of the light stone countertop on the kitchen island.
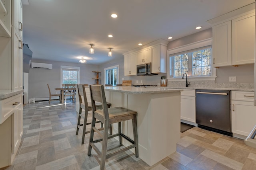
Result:
{"label": "light stone countertop on the kitchen island", "polygon": [[182,89],[170,89],[170,88],[142,88],[142,87],[132,87],[132,86],[105,86],[105,90],[112,92],[121,92],[129,94],[150,94],[150,93],[167,93],[167,92],[181,92]]}

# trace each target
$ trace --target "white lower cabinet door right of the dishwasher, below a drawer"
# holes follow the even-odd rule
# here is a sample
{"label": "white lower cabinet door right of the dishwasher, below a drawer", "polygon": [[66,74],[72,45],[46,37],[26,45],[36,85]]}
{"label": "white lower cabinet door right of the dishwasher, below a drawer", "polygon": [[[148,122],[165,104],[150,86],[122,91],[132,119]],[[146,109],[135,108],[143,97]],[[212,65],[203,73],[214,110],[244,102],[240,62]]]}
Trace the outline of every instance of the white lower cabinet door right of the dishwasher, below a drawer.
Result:
{"label": "white lower cabinet door right of the dishwasher, below a drawer", "polygon": [[256,106],[253,102],[232,101],[232,133],[248,136],[256,125]]}

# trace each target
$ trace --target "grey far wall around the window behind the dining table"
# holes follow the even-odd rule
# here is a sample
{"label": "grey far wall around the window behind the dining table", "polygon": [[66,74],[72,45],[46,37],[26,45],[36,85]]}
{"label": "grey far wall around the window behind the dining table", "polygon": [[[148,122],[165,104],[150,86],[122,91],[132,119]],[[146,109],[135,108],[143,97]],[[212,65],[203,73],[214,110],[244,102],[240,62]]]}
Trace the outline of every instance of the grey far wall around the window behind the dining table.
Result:
{"label": "grey far wall around the window behind the dining table", "polygon": [[28,98],[45,98],[49,97],[47,84],[50,86],[51,93],[60,93],[54,90],[61,86],[60,83],[60,66],[76,66],[80,67],[80,83],[81,84],[94,84],[96,74],[92,71],[98,71],[98,65],[82,64],[82,63],[66,63],[60,61],[47,61],[47,60],[32,60],[37,63],[52,64],[52,70],[30,68],[28,73]]}

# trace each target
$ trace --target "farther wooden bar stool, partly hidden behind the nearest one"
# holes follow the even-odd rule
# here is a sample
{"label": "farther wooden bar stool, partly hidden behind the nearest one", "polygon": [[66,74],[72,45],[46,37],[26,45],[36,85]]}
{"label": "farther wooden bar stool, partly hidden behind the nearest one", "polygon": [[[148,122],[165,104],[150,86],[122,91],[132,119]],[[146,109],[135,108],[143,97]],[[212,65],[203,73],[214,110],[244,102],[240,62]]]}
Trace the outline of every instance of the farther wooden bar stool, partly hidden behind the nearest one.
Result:
{"label": "farther wooden bar stool, partly hidden behind the nearest one", "polygon": [[[90,133],[90,131],[86,131],[86,125],[90,125],[91,122],[87,122],[87,117],[88,117],[88,111],[92,110],[92,105],[91,102],[88,102],[87,97],[86,97],[86,91],[85,91],[85,86],[88,86],[88,84],[78,84],[78,96],[79,96],[79,113],[78,113],[78,121],[77,121],[77,127],[76,127],[76,135],[78,135],[79,129],[83,131],[82,134],[82,144],[84,144],[84,136],[86,133]],[[108,103],[107,107],[110,108],[111,104]],[[102,109],[102,104],[97,103],[96,108]],[[82,114],[82,109],[84,109],[85,114]],[[80,120],[84,119],[84,123],[80,124]],[[101,123],[100,121],[96,121],[96,123]],[[101,123],[102,124],[102,123]],[[83,126],[83,128],[82,128]],[[101,125],[101,127],[103,127]],[[110,135],[112,135],[112,126],[109,125],[109,131]]]}

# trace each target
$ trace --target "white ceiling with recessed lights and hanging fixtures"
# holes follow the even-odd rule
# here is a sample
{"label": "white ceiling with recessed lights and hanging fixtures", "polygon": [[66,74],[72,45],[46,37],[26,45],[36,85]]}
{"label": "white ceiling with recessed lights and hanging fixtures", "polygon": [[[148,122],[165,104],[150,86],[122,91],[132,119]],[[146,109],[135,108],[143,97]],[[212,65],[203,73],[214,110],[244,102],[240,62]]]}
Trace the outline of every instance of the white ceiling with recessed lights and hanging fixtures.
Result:
{"label": "white ceiling with recessed lights and hanging fixtures", "polygon": [[[23,41],[32,59],[102,64],[157,39],[210,28],[207,20],[254,0],[22,0]],[[118,18],[111,18],[112,13]],[[196,30],[196,26],[202,29]],[[109,38],[108,35],[113,37]],[[168,40],[168,41],[172,41]],[[89,54],[90,43],[94,54]],[[113,57],[108,57],[112,47]]]}

